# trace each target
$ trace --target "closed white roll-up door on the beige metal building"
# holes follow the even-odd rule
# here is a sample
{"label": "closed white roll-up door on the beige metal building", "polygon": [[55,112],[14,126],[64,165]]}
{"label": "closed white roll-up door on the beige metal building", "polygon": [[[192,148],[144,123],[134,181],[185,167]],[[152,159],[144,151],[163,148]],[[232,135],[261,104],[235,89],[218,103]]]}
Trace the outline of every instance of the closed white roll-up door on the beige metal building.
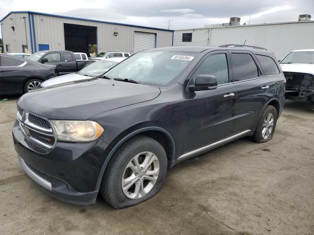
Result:
{"label": "closed white roll-up door on the beige metal building", "polygon": [[134,53],[156,47],[156,33],[134,32]]}

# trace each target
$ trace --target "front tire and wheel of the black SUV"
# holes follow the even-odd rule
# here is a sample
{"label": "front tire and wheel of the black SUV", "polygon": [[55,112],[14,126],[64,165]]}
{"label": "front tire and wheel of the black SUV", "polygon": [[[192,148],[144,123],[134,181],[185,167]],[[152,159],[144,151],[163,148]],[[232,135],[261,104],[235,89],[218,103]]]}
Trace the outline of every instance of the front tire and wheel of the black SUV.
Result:
{"label": "front tire and wheel of the black SUV", "polygon": [[[148,159],[154,161],[146,166],[145,161]],[[157,171],[158,175],[153,175]],[[109,161],[100,193],[116,209],[131,207],[153,197],[161,188],[166,172],[167,156],[162,145],[152,138],[139,135],[123,144]]]}

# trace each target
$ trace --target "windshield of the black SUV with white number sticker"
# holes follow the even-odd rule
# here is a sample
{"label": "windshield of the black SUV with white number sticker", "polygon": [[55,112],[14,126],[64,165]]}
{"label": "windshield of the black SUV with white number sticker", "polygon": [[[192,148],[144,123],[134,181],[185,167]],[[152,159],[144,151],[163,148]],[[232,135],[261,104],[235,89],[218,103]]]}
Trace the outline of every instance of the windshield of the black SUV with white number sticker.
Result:
{"label": "windshield of the black SUV with white number sticker", "polygon": [[140,52],[121,62],[105,75],[162,86],[175,79],[195,55],[196,53],[178,51]]}

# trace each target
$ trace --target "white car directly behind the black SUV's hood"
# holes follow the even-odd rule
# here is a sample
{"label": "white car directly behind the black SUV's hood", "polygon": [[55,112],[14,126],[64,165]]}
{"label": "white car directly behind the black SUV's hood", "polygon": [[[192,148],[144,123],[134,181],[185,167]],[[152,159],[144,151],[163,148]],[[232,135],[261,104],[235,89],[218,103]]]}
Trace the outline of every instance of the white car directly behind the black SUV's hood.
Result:
{"label": "white car directly behind the black SUV's hood", "polygon": [[64,83],[83,81],[83,80],[91,79],[93,77],[98,77],[127,58],[128,57],[115,57],[115,58],[103,59],[103,60],[94,62],[93,64],[90,64],[89,66],[86,66],[84,69],[78,72],[69,73],[69,74],[65,74],[62,76],[48,79],[44,81],[42,84],[40,84],[40,87],[49,87],[49,86],[58,85],[58,84],[66,85]]}

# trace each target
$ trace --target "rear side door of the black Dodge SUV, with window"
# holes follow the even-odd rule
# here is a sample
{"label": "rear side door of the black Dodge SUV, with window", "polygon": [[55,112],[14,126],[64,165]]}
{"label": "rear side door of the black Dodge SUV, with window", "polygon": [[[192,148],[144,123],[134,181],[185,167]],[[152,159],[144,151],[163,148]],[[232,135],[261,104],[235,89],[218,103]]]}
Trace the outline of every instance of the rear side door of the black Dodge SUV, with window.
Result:
{"label": "rear side door of the black Dodge SUV, with window", "polygon": [[253,130],[268,100],[269,81],[250,51],[230,51],[235,94],[234,134]]}

